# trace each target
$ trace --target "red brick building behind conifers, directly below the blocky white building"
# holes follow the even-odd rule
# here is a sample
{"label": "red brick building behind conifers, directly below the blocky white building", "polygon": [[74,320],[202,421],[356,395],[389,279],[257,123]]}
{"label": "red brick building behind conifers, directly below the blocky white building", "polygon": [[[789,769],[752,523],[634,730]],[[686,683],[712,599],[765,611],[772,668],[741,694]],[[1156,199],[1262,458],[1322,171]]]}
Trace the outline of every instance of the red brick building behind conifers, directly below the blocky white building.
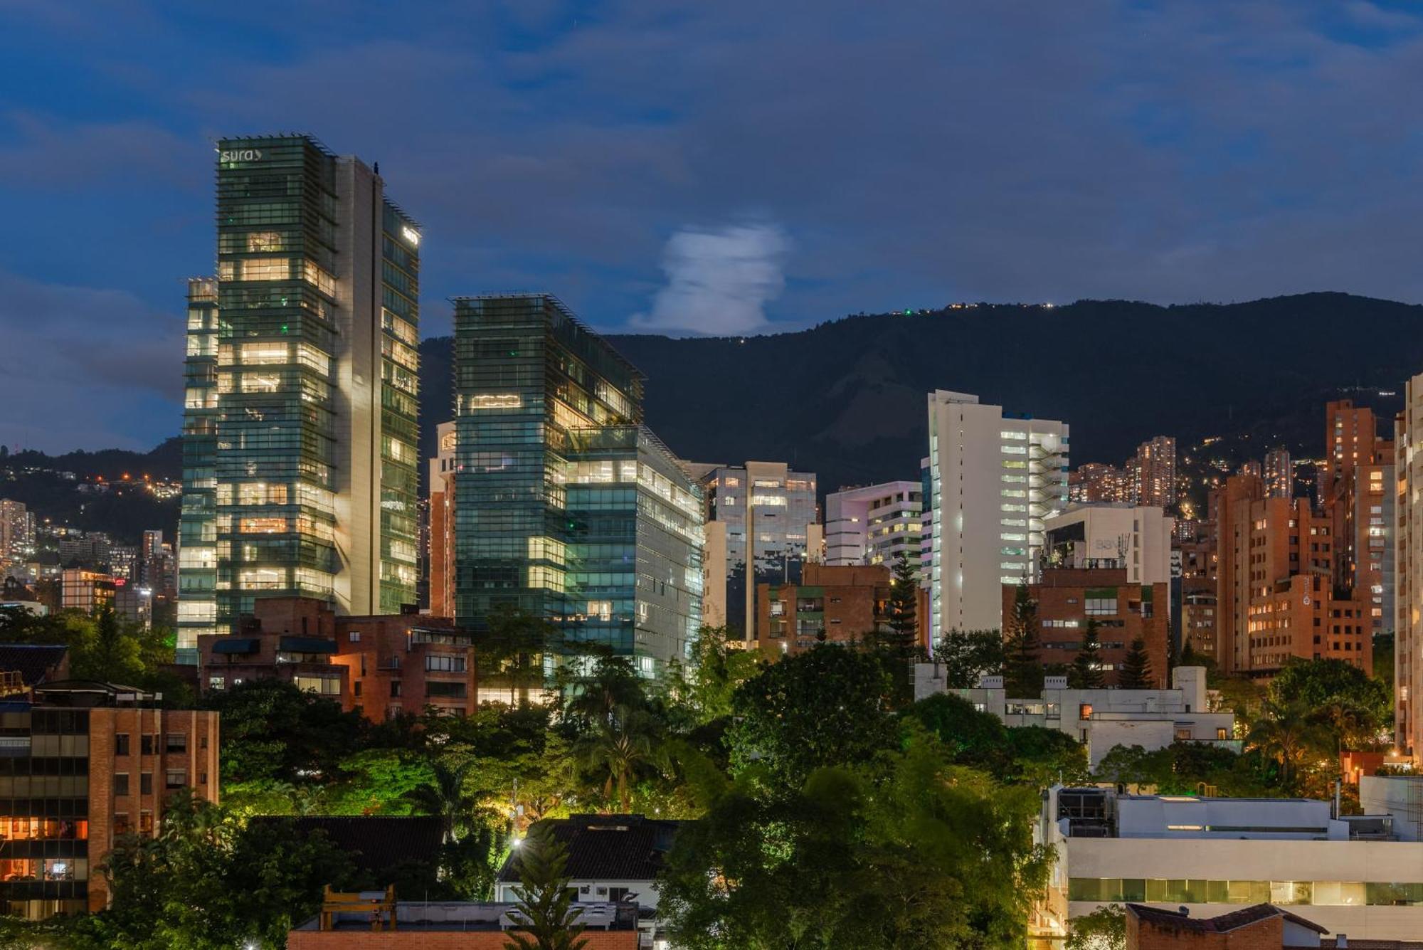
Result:
{"label": "red brick building behind conifers, directly below the blocky white building", "polygon": [[[1100,663],[1107,685],[1116,685],[1131,641],[1146,641],[1151,657],[1151,688],[1163,688],[1167,674],[1167,630],[1171,623],[1168,583],[1128,583],[1126,567],[1049,567],[1042,583],[1027,586],[1037,602],[1042,661],[1072,663],[1089,620],[1100,624]],[[1003,617],[1013,613],[1015,585],[1003,585]]]}

